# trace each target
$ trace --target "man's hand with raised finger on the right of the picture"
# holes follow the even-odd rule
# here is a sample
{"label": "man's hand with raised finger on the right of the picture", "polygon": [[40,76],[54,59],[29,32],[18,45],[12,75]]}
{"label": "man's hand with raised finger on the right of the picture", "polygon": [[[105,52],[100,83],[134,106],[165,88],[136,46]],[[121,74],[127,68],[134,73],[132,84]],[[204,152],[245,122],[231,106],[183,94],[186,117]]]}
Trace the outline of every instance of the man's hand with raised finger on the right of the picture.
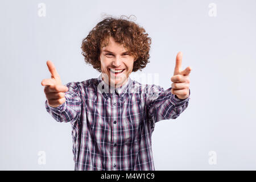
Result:
{"label": "man's hand with raised finger on the right of the picture", "polygon": [[174,69],[174,76],[171,77],[173,82],[171,87],[171,93],[175,94],[179,99],[185,99],[189,97],[189,73],[191,72],[191,67],[187,67],[181,71],[182,63],[182,52],[177,53],[176,65]]}

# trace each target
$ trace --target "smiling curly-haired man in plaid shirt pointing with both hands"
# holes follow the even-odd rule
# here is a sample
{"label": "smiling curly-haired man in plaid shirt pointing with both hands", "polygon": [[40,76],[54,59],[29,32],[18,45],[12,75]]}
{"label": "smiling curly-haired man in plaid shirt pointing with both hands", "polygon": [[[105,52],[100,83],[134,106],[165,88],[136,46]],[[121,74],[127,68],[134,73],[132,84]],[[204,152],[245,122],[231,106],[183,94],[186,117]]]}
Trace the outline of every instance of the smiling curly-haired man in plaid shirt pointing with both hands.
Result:
{"label": "smiling curly-haired man in plaid shirt pointing with both hands", "polygon": [[176,119],[188,106],[189,73],[176,57],[171,88],[142,85],[129,77],[149,62],[151,38],[124,19],[105,18],[82,41],[85,62],[98,78],[61,84],[51,61],[44,79],[46,109],[72,125],[75,170],[154,170],[151,134],[155,123]]}

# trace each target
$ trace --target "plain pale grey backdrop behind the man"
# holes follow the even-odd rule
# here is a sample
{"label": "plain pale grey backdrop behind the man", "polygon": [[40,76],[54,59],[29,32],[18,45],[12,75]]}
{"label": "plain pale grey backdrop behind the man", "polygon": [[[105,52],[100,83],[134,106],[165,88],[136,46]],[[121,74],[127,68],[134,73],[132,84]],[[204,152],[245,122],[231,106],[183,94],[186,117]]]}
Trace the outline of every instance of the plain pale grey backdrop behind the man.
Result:
{"label": "plain pale grey backdrop behind the man", "polygon": [[[38,5],[46,5],[39,16]],[[215,15],[209,14],[216,5]],[[2,1],[0,169],[73,170],[70,123],[46,111],[51,60],[63,84],[94,78],[81,41],[105,14],[135,15],[152,38],[141,73],[170,88],[177,52],[190,66],[191,100],[176,120],[156,123],[156,170],[255,170],[256,1]],[[38,162],[39,151],[46,164]],[[210,151],[215,162],[209,163]]]}

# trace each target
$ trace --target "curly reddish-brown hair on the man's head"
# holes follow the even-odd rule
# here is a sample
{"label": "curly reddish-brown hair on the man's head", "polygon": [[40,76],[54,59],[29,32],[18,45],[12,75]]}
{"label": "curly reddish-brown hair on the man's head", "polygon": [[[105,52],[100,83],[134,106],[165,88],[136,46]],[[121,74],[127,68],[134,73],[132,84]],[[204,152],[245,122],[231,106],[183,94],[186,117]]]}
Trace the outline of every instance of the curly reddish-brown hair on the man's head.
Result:
{"label": "curly reddish-brown hair on the man's head", "polygon": [[[125,16],[127,17],[127,16]],[[129,19],[129,18],[127,18]],[[107,17],[99,22],[86,36],[82,39],[82,55],[86,64],[91,64],[93,68],[101,72],[100,53],[101,48],[109,43],[112,36],[115,42],[122,44],[127,51],[134,57],[133,72],[141,71],[146,67],[150,58],[151,38],[148,37],[143,27],[131,20]]]}

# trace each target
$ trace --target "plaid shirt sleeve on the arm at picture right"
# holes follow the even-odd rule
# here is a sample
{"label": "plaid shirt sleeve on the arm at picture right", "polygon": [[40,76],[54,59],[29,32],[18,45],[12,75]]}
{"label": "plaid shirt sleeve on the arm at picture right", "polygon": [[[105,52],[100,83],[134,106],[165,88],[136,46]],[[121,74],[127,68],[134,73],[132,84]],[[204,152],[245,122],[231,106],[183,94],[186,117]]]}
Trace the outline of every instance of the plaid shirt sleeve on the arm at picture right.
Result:
{"label": "plaid shirt sleeve on the arm at picture right", "polygon": [[148,115],[152,120],[152,127],[158,121],[176,119],[188,107],[190,97],[181,100],[171,93],[171,89],[164,90],[158,85],[148,88],[146,105]]}

